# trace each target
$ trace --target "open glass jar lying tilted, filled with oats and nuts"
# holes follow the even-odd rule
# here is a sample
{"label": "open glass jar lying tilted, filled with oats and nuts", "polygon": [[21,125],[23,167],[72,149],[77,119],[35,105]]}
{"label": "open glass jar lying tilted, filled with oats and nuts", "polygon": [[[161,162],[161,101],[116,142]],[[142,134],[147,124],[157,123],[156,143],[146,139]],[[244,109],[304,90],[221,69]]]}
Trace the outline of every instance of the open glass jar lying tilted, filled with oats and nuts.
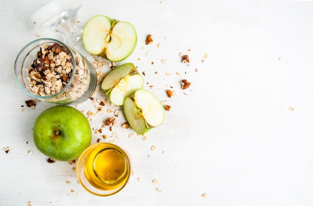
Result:
{"label": "open glass jar lying tilted, filled with oats and nuts", "polygon": [[15,79],[29,96],[55,104],[79,104],[93,93],[93,65],[76,49],[56,39],[40,38],[25,45],[15,60]]}

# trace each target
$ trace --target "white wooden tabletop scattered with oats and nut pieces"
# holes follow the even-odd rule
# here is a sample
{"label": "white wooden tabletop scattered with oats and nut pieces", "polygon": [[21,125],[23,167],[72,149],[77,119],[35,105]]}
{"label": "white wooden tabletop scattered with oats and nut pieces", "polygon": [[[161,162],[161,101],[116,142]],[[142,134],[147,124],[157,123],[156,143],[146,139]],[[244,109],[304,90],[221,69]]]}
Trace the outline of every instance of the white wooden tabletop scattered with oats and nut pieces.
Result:
{"label": "white wooden tabletop scattered with oats and nut pieces", "polygon": [[[88,194],[77,184],[75,165],[48,164],[34,147],[33,121],[52,104],[38,102],[34,110],[25,107],[21,111],[24,101],[31,98],[13,76],[17,53],[37,38],[30,16],[49,0],[2,0],[1,206],[26,206],[28,201],[32,206],[313,204],[312,2],[81,1],[81,28],[96,14],[135,26],[137,47],[123,62],[133,62],[145,72],[144,87],[171,110],[145,141],[139,136],[128,138],[132,131],[121,128],[122,116],[116,118],[119,125],[113,131],[106,127],[101,134],[93,132],[92,144],[101,135],[116,132],[118,139],[100,141],[114,140],[129,153],[133,175],[116,195]],[[153,43],[145,45],[149,33]],[[92,60],[81,45],[77,48]],[[204,53],[208,58],[201,62]],[[188,54],[190,63],[182,64],[179,54]],[[181,79],[191,82],[187,90],[180,89]],[[176,95],[166,97],[166,89]],[[98,90],[95,98],[106,96]],[[90,100],[77,109],[96,111]],[[96,114],[90,125],[100,128],[111,116]],[[7,146],[6,154],[2,148]],[[28,150],[33,153],[28,155]]]}

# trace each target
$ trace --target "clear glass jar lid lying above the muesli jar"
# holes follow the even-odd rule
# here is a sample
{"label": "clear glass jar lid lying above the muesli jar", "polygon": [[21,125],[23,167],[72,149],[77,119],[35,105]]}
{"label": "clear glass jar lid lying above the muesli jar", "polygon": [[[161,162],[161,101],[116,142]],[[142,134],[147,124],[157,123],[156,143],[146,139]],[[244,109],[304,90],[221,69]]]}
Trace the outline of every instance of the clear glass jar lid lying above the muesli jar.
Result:
{"label": "clear glass jar lid lying above the muesli jar", "polygon": [[[79,0],[52,0],[39,10],[31,19],[36,36],[47,33],[49,37],[74,46],[81,41],[82,29],[77,27],[77,13],[82,3]],[[56,31],[56,32],[55,32]]]}

